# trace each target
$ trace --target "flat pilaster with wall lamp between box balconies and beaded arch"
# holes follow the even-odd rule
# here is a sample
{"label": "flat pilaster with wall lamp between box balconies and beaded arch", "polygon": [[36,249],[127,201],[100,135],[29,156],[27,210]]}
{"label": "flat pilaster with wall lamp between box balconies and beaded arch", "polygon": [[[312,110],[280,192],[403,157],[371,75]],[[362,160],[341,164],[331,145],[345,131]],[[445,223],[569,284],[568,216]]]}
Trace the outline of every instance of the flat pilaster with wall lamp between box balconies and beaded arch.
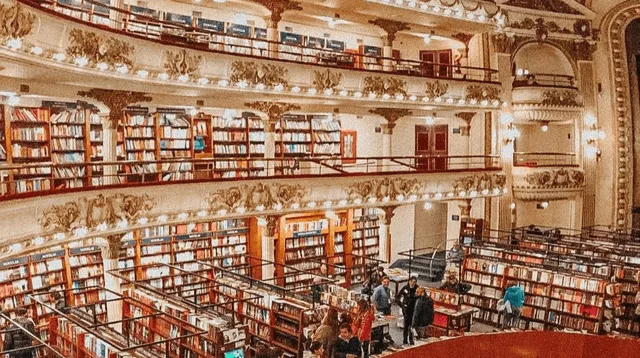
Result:
{"label": "flat pilaster with wall lamp between box balconies and beaded arch", "polygon": [[[585,131],[591,131],[594,130],[594,128],[598,128],[596,119],[598,111],[596,108],[596,89],[592,61],[578,61],[578,80],[580,81],[580,92],[582,93],[584,105],[584,117],[582,118],[582,123],[578,124],[578,128],[581,129],[580,133],[584,133]],[[592,124],[591,128],[589,128],[587,122],[593,120],[595,120],[596,124]],[[585,150],[585,145],[587,144],[582,140],[582,163],[584,169],[582,227],[593,226],[596,224],[596,182],[598,180],[597,154],[594,151]]]}

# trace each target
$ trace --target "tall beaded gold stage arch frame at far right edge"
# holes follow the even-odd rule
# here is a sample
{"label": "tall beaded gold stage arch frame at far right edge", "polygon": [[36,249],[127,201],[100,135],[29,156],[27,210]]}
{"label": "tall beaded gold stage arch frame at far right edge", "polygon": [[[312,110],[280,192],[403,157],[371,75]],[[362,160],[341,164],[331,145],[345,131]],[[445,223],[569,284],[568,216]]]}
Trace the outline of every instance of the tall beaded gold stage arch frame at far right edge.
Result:
{"label": "tall beaded gold stage arch frame at far right edge", "polygon": [[627,0],[611,9],[603,18],[600,26],[605,34],[607,52],[610,56],[611,103],[615,123],[612,125],[616,148],[613,148],[615,178],[612,198],[613,221],[619,228],[629,227],[632,213],[633,195],[633,137],[632,107],[629,84],[628,54],[626,48],[626,29],[632,21],[640,19],[640,3]]}

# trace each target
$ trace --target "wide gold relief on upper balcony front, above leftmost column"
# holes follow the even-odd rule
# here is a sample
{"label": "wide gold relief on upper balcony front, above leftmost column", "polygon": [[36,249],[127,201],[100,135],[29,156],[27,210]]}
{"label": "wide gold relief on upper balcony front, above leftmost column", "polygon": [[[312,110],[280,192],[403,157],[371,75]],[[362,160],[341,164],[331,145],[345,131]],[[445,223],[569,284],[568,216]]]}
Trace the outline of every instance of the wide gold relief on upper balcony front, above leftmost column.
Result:
{"label": "wide gold relief on upper balcony front, above leftmost column", "polygon": [[95,32],[73,29],[69,32],[67,54],[72,58],[86,57],[92,63],[104,62],[111,66],[131,66],[134,47],[115,38],[104,38]]}

